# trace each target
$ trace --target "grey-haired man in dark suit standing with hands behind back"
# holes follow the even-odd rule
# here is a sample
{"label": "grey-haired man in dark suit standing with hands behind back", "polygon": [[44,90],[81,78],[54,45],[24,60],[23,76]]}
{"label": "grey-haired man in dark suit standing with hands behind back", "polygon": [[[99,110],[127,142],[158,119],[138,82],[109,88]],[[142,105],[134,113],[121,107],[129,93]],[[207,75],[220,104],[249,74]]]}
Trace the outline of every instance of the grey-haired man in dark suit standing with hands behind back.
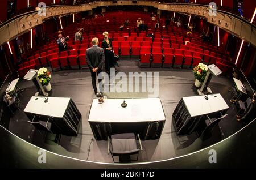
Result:
{"label": "grey-haired man in dark suit standing with hands behind back", "polygon": [[[93,46],[86,50],[86,62],[88,67],[90,68],[90,73],[92,76],[92,85],[94,89],[94,93],[97,96],[97,86],[96,86],[96,74],[100,74],[102,72],[102,66],[104,65],[104,50],[98,47],[98,38],[94,37],[92,39]],[[98,79],[98,83],[101,82],[101,79]],[[100,92],[102,89],[100,87]]]}

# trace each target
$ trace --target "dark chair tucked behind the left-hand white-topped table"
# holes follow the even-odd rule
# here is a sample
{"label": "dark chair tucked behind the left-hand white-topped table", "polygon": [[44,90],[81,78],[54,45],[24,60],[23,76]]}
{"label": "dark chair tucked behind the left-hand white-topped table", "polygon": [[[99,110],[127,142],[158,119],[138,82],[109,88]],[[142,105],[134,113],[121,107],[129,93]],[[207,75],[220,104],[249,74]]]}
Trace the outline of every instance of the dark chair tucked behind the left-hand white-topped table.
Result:
{"label": "dark chair tucked behind the left-hand white-topped table", "polygon": [[[39,130],[39,132],[44,131],[44,136],[43,136],[44,140],[46,139],[47,132],[51,132],[52,135],[55,135],[54,137],[55,140],[53,141],[59,145],[61,134],[58,132],[56,125],[50,122],[50,119],[51,118],[48,118],[47,121],[40,121],[39,118],[36,118],[36,116],[34,116],[32,121],[27,121],[27,122],[33,125],[37,130]],[[40,132],[40,134],[42,133]]]}

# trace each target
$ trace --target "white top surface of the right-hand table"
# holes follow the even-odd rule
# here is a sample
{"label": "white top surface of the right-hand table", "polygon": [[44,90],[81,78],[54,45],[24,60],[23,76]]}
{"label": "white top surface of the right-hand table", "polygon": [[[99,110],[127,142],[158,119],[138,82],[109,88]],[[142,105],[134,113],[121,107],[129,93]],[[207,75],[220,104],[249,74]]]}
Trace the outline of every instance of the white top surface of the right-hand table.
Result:
{"label": "white top surface of the right-hand table", "polygon": [[218,112],[229,108],[224,98],[219,93],[208,95],[208,100],[206,100],[203,95],[183,97],[183,101],[191,117]]}

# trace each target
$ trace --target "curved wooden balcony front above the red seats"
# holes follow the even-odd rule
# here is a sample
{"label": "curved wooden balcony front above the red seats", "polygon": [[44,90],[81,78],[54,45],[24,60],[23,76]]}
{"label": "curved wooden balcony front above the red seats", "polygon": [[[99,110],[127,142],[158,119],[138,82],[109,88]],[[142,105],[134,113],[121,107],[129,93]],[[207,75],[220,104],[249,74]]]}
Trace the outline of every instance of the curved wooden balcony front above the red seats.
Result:
{"label": "curved wooden balcony front above the red seats", "polygon": [[22,35],[30,31],[31,28],[43,23],[43,21],[68,14],[76,14],[83,11],[91,11],[96,7],[101,6],[152,6],[158,10],[175,11],[187,15],[203,16],[212,23],[241,39],[250,42],[251,45],[256,46],[256,27],[247,20],[232,14],[230,12],[217,10],[216,16],[209,14],[209,7],[206,5],[197,4],[169,4],[159,3],[156,1],[97,1],[84,5],[58,5],[47,6],[46,15],[38,13],[38,11],[31,11],[15,16],[7,20],[0,26],[0,44],[10,41],[18,35]]}

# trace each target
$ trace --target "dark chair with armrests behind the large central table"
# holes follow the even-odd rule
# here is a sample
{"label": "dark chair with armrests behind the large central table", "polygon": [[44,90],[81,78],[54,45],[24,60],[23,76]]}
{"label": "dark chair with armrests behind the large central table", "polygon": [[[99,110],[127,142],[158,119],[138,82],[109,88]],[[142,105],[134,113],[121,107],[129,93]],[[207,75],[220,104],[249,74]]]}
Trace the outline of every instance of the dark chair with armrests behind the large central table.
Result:
{"label": "dark chair with armrests behind the large central table", "polygon": [[[139,140],[139,148],[137,146],[137,138]],[[109,147],[111,144],[111,149]],[[141,139],[139,134],[135,136],[134,133],[122,133],[108,136],[108,154],[111,153],[114,162],[114,156],[119,156],[119,162],[130,162],[132,159],[130,155],[137,154],[137,159],[132,161],[138,161],[139,151],[142,151]]]}

